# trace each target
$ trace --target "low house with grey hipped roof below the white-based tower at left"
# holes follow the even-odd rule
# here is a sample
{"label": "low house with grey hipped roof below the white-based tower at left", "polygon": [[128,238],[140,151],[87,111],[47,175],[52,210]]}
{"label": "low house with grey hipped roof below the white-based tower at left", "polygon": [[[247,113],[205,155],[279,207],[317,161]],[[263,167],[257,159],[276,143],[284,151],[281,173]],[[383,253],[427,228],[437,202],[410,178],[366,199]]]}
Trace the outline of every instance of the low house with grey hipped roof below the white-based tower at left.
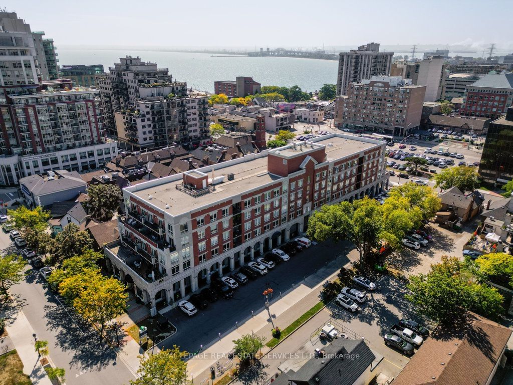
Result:
{"label": "low house with grey hipped roof below the white-based tower at left", "polygon": [[74,200],[87,192],[87,182],[76,171],[55,170],[54,176],[31,175],[19,180],[22,194],[29,206],[49,207],[53,202]]}

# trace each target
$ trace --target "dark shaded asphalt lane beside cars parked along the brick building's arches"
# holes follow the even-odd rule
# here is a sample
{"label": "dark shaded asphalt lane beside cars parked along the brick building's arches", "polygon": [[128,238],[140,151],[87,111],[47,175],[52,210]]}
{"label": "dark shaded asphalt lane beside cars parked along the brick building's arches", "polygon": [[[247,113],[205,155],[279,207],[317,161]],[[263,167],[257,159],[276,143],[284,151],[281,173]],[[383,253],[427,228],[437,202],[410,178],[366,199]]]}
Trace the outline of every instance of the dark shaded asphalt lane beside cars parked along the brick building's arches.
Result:
{"label": "dark shaded asphalt lane beside cars parked along the brick building's arches", "polygon": [[[164,341],[164,347],[170,348],[173,344],[180,346],[181,350],[187,352],[198,351],[201,345],[206,346],[209,342],[223,335],[235,326],[251,317],[251,311],[255,314],[264,306],[262,293],[267,287],[272,287],[274,296],[284,293],[292,287],[292,284],[301,282],[305,276],[317,272],[317,269],[324,267],[328,262],[338,256],[346,256],[349,251],[347,243],[324,242],[312,245],[305,251],[298,253],[287,262],[275,266],[266,276],[260,276],[246,285],[236,288],[233,298],[229,300],[219,299],[209,303],[208,307],[192,317],[187,316],[179,309],[173,309],[164,314],[177,329],[176,334]],[[342,263],[342,265],[344,265]],[[342,266],[341,265],[341,266]],[[338,268],[334,269],[336,272]],[[267,283],[268,282],[268,283]],[[162,343],[159,344],[162,347]]]}

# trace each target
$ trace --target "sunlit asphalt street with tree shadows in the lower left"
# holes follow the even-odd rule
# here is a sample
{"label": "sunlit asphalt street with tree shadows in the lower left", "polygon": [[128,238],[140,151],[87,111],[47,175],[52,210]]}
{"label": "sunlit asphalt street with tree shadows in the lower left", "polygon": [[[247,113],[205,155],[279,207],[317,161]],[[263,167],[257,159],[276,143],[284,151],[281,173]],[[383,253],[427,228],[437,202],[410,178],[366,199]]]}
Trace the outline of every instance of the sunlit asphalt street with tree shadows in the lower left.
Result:
{"label": "sunlit asphalt street with tree shadows in the lower left", "polygon": [[[0,230],[2,252],[16,251],[9,235]],[[63,306],[48,290],[40,275],[32,271],[13,285],[10,292],[40,340],[47,340],[53,363],[66,370],[68,385],[127,384],[134,379],[115,352],[100,342],[98,334],[83,334]]]}

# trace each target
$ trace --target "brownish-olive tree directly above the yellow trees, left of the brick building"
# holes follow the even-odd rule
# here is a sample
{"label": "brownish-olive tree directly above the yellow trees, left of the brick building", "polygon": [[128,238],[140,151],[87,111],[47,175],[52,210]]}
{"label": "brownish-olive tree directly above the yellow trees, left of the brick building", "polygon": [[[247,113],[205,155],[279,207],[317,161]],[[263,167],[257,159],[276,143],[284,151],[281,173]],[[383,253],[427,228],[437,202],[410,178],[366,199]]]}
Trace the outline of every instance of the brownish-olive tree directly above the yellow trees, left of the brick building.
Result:
{"label": "brownish-olive tree directly above the yellow trees, left of the brick building", "polygon": [[70,223],[55,237],[50,262],[54,266],[61,264],[65,259],[82,254],[84,249],[91,248],[92,244],[93,241],[87,232]]}

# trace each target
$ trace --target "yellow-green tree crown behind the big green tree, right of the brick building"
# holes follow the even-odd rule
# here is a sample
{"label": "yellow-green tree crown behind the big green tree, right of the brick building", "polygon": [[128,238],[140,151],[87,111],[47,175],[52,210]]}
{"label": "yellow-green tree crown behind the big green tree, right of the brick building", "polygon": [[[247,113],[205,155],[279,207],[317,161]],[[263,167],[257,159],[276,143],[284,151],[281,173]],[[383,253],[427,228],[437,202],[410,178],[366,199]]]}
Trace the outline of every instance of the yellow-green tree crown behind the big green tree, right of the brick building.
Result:
{"label": "yellow-green tree crown behind the big green tree, right of the brick building", "polygon": [[438,198],[435,190],[429,186],[405,183],[393,187],[390,190],[388,199],[397,200],[400,197],[406,198],[412,209],[418,207],[422,213],[422,219],[433,218],[442,206],[441,200]]}

